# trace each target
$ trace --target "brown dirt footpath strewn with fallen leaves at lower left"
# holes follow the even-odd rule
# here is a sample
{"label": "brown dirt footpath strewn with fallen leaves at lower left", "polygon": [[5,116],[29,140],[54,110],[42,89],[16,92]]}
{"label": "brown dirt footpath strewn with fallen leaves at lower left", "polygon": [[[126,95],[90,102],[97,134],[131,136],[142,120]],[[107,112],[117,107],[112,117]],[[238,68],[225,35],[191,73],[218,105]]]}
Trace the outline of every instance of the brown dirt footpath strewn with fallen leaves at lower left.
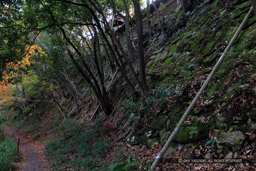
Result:
{"label": "brown dirt footpath strewn with fallen leaves at lower left", "polygon": [[[11,127],[4,126],[4,134],[12,136]],[[20,153],[22,160],[17,164],[19,171],[48,171],[49,164],[45,158],[44,145],[38,141],[30,141],[20,135],[15,135],[15,138],[20,138]]]}

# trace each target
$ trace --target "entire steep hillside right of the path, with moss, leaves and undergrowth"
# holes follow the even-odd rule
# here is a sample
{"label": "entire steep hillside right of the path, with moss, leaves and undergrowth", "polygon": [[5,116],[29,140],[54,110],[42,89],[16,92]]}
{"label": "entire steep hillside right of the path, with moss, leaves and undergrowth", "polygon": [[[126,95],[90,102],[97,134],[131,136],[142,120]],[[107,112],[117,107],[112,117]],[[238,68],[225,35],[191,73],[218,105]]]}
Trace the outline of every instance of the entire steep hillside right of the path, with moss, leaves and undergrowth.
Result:
{"label": "entire steep hillside right of the path, with moss, leaves and undergrowth", "polygon": [[[196,2],[202,3],[191,12],[181,11],[162,18],[166,33],[156,28],[151,40],[146,37],[150,91],[143,101],[130,97],[127,84],[118,77],[110,88],[117,105],[109,117],[99,110],[97,122],[87,122],[92,108],[97,106],[91,104],[94,100],[90,97],[91,101],[86,100],[72,118],[63,118],[57,108],[42,105],[35,112],[45,110],[40,124],[35,123],[33,116],[23,122],[25,125],[34,120],[31,128],[26,127],[34,135],[54,130],[45,148],[53,170],[150,168],[250,8],[249,0]],[[256,15],[250,17],[228,52],[159,164],[159,170],[255,167],[255,44]],[[47,120],[46,115],[51,119]],[[43,128],[47,130],[42,131]],[[238,163],[179,162],[209,158],[238,159]]]}

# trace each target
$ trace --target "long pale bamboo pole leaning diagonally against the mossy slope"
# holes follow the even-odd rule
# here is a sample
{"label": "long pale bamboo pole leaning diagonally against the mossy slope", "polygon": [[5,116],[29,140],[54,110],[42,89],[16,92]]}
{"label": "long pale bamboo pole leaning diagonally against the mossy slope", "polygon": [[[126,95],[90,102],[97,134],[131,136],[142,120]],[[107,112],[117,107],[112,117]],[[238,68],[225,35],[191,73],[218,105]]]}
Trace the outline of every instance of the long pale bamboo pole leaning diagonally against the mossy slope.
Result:
{"label": "long pale bamboo pole leaning diagonally against the mossy slope", "polygon": [[156,159],[154,161],[154,163],[151,166],[151,170],[155,170],[157,164],[159,163],[159,161],[162,159],[162,157],[164,156],[164,154],[166,153],[169,145],[171,144],[171,142],[173,141],[173,139],[175,138],[175,136],[177,135],[177,133],[179,132],[181,126],[183,125],[184,121],[186,120],[187,116],[189,115],[189,113],[191,112],[191,110],[194,108],[194,106],[196,105],[196,102],[198,101],[199,97],[202,95],[203,91],[206,89],[206,87],[208,86],[208,84],[210,83],[211,79],[213,78],[214,74],[216,73],[217,69],[219,68],[219,66],[221,65],[221,63],[223,62],[223,60],[225,59],[225,55],[226,53],[229,51],[229,49],[231,48],[231,46],[234,44],[236,38],[239,36],[240,32],[242,31],[246,21],[248,20],[248,18],[250,17],[250,15],[252,14],[253,11],[253,7],[250,8],[249,12],[247,13],[247,15],[245,16],[243,22],[240,24],[239,28],[237,29],[235,35],[233,36],[233,38],[231,39],[231,41],[229,42],[228,46],[226,47],[225,51],[223,52],[223,54],[221,55],[221,57],[219,58],[218,62],[216,63],[216,65],[214,66],[214,68],[212,69],[211,73],[209,74],[207,80],[204,82],[203,86],[201,87],[201,89],[199,90],[199,92],[197,93],[196,97],[193,99],[193,101],[191,102],[191,104],[189,105],[189,107],[187,108],[187,110],[185,111],[185,113],[183,114],[182,118],[180,119],[179,123],[177,124],[177,126],[175,127],[175,129],[173,130],[171,136],[168,138],[167,142],[165,143],[164,147],[162,148],[161,152],[156,156]]}

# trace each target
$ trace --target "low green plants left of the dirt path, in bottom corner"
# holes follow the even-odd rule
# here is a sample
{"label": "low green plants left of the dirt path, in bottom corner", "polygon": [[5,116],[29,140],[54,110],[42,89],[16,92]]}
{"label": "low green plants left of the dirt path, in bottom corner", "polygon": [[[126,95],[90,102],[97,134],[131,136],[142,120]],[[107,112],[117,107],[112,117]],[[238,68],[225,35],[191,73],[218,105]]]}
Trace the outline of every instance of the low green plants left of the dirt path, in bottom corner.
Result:
{"label": "low green plants left of the dirt path, in bottom corner", "polygon": [[0,141],[0,168],[3,171],[8,171],[13,166],[11,163],[17,158],[17,147],[14,139],[8,138]]}

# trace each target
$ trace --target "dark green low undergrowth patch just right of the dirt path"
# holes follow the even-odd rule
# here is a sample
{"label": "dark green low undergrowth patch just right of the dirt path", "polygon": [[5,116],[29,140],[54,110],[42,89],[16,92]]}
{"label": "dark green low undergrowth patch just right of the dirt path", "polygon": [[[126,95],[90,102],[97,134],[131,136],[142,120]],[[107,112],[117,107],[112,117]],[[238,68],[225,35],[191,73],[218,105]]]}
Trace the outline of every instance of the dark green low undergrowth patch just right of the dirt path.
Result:
{"label": "dark green low undergrowth patch just right of the dirt path", "polygon": [[110,141],[101,138],[99,125],[84,130],[82,124],[67,120],[60,128],[57,139],[46,146],[46,152],[54,170],[100,170],[105,164]]}

